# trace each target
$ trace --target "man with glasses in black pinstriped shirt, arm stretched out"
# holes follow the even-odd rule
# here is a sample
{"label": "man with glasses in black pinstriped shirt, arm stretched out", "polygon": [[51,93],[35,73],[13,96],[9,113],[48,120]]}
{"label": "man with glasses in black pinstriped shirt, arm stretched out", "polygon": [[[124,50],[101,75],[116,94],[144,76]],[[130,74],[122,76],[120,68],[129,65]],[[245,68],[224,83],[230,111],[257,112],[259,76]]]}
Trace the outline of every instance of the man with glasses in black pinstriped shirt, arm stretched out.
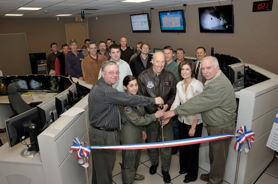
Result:
{"label": "man with glasses in black pinstriped shirt, arm stretched out", "polygon": [[[149,98],[120,92],[112,87],[119,79],[118,65],[105,61],[101,67],[101,78],[96,81],[88,97],[90,120],[90,145],[117,145],[117,129],[120,125],[118,104],[125,106],[147,106],[163,104],[160,97]],[[112,171],[116,162],[116,150],[92,150],[92,184],[111,184]]]}

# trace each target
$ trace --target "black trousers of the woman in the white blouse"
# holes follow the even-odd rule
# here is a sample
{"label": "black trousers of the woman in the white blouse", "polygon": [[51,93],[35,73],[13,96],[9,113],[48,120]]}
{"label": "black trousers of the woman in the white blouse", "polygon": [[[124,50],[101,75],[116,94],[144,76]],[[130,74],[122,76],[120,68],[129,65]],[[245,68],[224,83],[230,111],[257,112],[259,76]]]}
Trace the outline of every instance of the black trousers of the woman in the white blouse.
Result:
{"label": "black trousers of the woman in the white blouse", "polygon": [[[191,125],[181,123],[180,121],[178,123],[180,139],[196,138],[202,136],[203,123],[196,125],[196,130],[193,137],[188,135]],[[199,147],[200,144],[180,146],[180,170],[187,172],[184,178],[190,181],[195,181],[198,177]]]}

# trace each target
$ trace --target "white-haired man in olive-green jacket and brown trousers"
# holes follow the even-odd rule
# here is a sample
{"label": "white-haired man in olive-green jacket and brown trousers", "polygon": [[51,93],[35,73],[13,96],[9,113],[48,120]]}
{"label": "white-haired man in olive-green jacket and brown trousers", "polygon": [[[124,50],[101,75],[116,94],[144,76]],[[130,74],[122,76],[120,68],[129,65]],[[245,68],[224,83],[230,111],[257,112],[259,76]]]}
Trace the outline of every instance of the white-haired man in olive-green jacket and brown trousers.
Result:
{"label": "white-haired man in olive-green jacket and brown trousers", "polygon": [[[165,112],[163,125],[174,115],[189,115],[202,112],[207,124],[208,135],[234,134],[236,100],[234,88],[219,70],[215,57],[206,56],[202,60],[202,73],[206,78],[204,90],[172,111]],[[209,142],[210,173],[200,179],[208,184],[222,183],[231,138]]]}

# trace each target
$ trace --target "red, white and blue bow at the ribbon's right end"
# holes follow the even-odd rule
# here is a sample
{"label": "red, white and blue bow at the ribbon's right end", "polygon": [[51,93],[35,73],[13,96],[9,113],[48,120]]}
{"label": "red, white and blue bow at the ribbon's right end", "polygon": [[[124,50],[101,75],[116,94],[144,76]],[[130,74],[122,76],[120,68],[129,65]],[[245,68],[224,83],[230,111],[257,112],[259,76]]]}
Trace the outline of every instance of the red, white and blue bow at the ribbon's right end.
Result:
{"label": "red, white and blue bow at the ribbon's right end", "polygon": [[236,132],[235,137],[237,138],[237,142],[234,144],[234,149],[241,151],[241,145],[245,142],[248,145],[248,148],[245,148],[245,153],[248,153],[251,148],[251,143],[254,142],[255,133],[250,130],[247,132],[246,126],[241,126],[240,129]]}

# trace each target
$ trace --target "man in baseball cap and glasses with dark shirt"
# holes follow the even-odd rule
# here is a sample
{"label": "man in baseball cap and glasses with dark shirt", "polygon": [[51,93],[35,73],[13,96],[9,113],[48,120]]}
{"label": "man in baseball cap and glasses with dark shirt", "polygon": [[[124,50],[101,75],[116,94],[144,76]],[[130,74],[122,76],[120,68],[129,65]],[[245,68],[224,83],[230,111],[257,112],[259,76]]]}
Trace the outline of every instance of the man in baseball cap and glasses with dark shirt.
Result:
{"label": "man in baseball cap and glasses with dark shirt", "polygon": [[70,40],[70,52],[65,57],[66,70],[69,73],[69,77],[75,77],[83,80],[81,62],[84,59],[84,55],[77,51],[77,41],[75,39]]}

